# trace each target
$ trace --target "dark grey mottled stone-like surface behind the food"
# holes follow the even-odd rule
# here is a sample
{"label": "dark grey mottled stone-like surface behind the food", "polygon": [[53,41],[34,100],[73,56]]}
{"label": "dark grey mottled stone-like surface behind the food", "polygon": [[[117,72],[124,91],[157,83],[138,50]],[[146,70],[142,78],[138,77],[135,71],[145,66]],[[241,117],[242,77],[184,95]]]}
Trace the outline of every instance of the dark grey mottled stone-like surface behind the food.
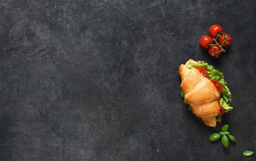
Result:
{"label": "dark grey mottled stone-like surface behind the food", "polygon": [[[214,24],[220,58],[199,44]],[[255,0],[1,1],[0,160],[256,160],[255,26]],[[189,58],[232,93],[216,128],[180,96]],[[227,148],[209,141],[224,124]]]}

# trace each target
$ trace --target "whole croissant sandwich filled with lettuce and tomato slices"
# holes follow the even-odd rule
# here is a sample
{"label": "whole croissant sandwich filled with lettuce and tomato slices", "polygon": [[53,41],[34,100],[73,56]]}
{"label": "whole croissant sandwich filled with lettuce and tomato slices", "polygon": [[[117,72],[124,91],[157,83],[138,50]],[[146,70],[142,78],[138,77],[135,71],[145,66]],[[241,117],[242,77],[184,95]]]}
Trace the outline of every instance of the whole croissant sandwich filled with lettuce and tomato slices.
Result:
{"label": "whole croissant sandwich filled with lettuce and tomato slices", "polygon": [[184,103],[189,104],[189,110],[205,125],[216,127],[222,115],[233,109],[223,74],[204,61],[192,59],[180,65],[179,74]]}

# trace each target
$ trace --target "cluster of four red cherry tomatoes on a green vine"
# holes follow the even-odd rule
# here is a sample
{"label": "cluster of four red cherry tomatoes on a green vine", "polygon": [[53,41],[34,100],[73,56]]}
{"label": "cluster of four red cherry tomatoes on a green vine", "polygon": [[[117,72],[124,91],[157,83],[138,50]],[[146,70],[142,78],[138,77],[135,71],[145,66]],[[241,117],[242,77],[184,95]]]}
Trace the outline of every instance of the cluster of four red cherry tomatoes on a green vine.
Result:
{"label": "cluster of four red cherry tomatoes on a green vine", "polygon": [[[209,36],[210,35],[210,36]],[[208,53],[212,57],[219,57],[228,47],[232,38],[229,34],[225,34],[220,25],[212,25],[209,29],[209,35],[204,35],[200,38],[200,45],[208,49]]]}

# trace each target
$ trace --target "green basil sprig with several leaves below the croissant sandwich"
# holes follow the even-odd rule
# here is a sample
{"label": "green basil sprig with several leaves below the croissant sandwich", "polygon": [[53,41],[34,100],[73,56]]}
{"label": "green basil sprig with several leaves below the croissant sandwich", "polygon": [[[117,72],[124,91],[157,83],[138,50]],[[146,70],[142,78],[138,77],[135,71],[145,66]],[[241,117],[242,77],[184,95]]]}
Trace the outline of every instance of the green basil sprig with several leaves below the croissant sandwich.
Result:
{"label": "green basil sprig with several leaves below the croissant sandwich", "polygon": [[231,141],[236,142],[235,136],[229,134],[230,132],[227,131],[228,129],[229,129],[229,125],[228,124],[223,125],[221,127],[221,130],[222,130],[221,132],[211,134],[211,136],[209,137],[210,141],[218,140],[218,139],[220,139],[220,136],[222,136],[221,137],[221,142],[227,148],[227,146],[229,145],[229,139]]}

